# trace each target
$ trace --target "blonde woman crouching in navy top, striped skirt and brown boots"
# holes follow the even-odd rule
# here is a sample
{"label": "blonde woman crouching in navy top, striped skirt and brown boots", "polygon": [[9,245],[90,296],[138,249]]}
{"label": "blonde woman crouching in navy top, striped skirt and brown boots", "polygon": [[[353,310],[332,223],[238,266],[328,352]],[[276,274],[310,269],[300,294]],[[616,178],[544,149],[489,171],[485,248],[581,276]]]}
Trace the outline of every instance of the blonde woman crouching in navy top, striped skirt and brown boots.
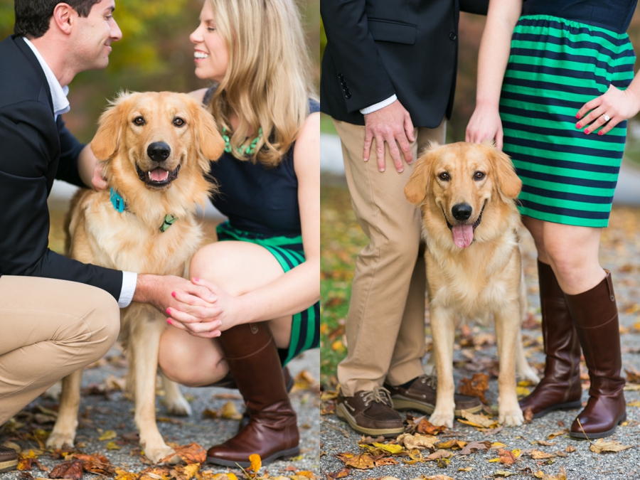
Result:
{"label": "blonde woman crouching in navy top, striped skirt and brown boots", "polygon": [[185,385],[233,378],[249,421],[208,462],[266,464],[299,454],[282,366],[319,346],[319,103],[293,0],[206,0],[190,38],[196,76],[214,82],[193,95],[225,139],[211,200],[229,220],[191,262],[210,297],[174,292],[159,363]]}

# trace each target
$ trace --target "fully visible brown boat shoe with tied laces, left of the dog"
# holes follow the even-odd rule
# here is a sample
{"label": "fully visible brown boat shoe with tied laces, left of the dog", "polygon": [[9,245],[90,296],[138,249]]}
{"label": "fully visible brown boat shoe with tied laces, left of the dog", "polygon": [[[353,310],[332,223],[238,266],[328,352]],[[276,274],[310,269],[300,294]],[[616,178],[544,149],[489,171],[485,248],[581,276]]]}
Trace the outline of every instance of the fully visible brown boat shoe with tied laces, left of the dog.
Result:
{"label": "fully visible brown boat shoe with tied laces, left of the dog", "polygon": [[395,437],[405,431],[402,417],[393,410],[389,391],[383,387],[359,390],[353,397],[338,395],[336,415],[356,432],[371,437]]}

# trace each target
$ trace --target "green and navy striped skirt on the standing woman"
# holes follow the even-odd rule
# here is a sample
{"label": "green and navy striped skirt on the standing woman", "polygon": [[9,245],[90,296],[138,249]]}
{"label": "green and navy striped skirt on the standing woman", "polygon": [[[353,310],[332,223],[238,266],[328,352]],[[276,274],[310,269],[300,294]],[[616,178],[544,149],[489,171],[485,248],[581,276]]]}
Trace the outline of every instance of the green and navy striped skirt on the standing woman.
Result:
{"label": "green and navy striped skirt on the standing woman", "polygon": [[523,16],[511,38],[500,100],[503,150],[523,187],[522,215],[606,227],[626,121],[607,134],[577,129],[582,105],[634,78],[626,33],[553,16]]}

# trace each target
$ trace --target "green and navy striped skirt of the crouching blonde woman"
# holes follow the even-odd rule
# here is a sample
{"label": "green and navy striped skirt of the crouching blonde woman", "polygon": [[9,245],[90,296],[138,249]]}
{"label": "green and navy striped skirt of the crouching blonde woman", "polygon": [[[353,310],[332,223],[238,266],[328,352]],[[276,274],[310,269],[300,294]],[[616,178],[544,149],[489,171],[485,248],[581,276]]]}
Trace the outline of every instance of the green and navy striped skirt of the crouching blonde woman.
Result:
{"label": "green and navy striped skirt of the crouching blonde woman", "polygon": [[[234,228],[229,221],[221,223],[216,228],[218,241],[239,240],[251,242],[265,247],[276,257],[285,273],[304,262],[302,235],[297,237],[270,237],[260,233],[246,232]],[[309,348],[320,346],[320,302],[300,311],[293,316],[291,328],[291,342],[287,351],[281,352],[282,365],[286,365],[292,358]]]}

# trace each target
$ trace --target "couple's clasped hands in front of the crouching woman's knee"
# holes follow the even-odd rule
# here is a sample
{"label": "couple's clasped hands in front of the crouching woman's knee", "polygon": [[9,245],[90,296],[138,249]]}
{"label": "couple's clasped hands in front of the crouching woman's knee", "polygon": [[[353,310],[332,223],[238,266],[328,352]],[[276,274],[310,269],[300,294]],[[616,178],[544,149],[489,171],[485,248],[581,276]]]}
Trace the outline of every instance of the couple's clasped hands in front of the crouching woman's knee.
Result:
{"label": "couple's clasped hands in front of the crouching woman's knee", "polygon": [[220,302],[220,295],[228,295],[208,282],[199,280],[198,283],[195,279],[192,283],[174,275],[140,274],[133,300],[155,306],[169,315],[168,323],[194,336],[220,336],[219,328],[223,324],[220,305],[224,304]]}

